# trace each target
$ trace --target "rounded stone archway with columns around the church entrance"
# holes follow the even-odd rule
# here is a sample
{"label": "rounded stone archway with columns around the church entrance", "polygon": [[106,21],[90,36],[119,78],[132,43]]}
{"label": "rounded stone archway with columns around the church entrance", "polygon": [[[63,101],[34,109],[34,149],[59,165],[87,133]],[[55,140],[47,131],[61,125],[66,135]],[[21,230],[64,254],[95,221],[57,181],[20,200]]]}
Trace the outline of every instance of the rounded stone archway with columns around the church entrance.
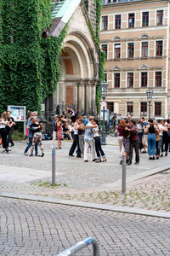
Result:
{"label": "rounded stone archway with columns around the church entrance", "polygon": [[87,38],[72,32],[65,38],[64,49],[60,55],[62,79],[57,90],[59,105],[74,106],[77,113],[96,113],[95,88],[98,82],[94,65],[93,50]]}

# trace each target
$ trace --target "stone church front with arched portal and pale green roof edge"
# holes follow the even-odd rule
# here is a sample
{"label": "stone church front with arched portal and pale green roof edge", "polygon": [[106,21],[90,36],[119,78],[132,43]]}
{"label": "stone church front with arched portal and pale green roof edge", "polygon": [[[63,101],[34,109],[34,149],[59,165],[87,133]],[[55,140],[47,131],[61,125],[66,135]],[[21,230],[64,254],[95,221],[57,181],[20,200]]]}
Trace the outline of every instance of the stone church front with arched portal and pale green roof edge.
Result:
{"label": "stone church front with arched portal and pale green roof edge", "polygon": [[54,117],[56,108],[61,114],[65,108],[77,113],[96,114],[95,95],[99,83],[99,54],[89,28],[96,32],[96,7],[94,0],[54,1],[53,22],[49,37],[58,37],[68,23],[60,65],[62,78],[54,95],[45,101],[45,118]]}

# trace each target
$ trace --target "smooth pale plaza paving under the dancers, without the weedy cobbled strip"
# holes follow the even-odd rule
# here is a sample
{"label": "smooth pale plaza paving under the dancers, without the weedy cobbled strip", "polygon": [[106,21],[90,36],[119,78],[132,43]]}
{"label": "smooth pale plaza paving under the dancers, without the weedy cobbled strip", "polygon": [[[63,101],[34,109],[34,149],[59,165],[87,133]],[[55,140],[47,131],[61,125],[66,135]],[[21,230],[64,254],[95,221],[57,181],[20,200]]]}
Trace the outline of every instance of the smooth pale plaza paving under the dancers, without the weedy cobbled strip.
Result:
{"label": "smooth pale plaza paving under the dancers, without the weedy cobbled strip", "polygon": [[[59,183],[59,191],[80,190],[105,190],[116,186],[121,187],[122,166],[119,164],[119,148],[115,137],[107,137],[104,146],[107,161],[96,164],[90,160],[84,163],[82,159],[68,156],[71,142],[63,142],[62,149],[56,150],[56,183]],[[45,156],[28,157],[23,154],[26,143],[15,143],[12,153],[0,155],[0,188],[3,191],[38,192],[41,186],[36,183],[51,182],[52,176],[52,151],[51,141],[44,141]],[[134,160],[133,160],[134,163]],[[147,154],[140,154],[139,166],[132,164],[127,166],[127,179],[138,178],[143,173],[154,171],[158,166],[164,168],[169,163],[169,156],[160,160],[150,161]],[[135,178],[134,178],[135,179]],[[34,186],[32,184],[34,183]],[[57,189],[57,188],[55,188]]]}

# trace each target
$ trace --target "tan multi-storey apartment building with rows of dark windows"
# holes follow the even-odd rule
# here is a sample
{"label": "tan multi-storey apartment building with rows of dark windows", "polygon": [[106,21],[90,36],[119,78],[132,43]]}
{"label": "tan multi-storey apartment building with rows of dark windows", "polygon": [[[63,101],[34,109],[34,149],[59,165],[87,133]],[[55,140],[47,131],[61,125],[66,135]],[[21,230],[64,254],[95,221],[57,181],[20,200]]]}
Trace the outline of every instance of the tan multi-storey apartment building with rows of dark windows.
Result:
{"label": "tan multi-storey apartment building with rows of dark windows", "polygon": [[153,91],[150,116],[170,113],[168,0],[105,0],[100,42],[105,51],[110,113],[149,115],[146,91]]}

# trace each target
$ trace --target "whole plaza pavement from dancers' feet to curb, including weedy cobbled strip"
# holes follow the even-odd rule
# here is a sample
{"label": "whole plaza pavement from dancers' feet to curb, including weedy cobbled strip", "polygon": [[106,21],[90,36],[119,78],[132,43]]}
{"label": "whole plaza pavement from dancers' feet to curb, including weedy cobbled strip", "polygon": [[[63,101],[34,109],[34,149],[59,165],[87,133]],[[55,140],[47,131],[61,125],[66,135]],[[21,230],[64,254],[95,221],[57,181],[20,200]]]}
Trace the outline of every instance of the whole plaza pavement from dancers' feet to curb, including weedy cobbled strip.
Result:
{"label": "whole plaza pavement from dancers' feet to curb, including weedy cobbled strip", "polygon": [[[12,154],[0,155],[0,195],[4,196],[5,193],[7,196],[12,196],[12,194],[14,196],[25,194],[27,197],[29,197],[28,195],[45,195],[54,197],[55,200],[57,197],[70,200],[70,202],[76,200],[88,201],[93,204],[102,203],[105,204],[105,207],[106,205],[115,207],[115,203],[117,203],[116,207],[124,206],[122,211],[125,212],[125,207],[129,207],[129,203],[130,207],[133,205],[133,209],[134,207],[144,208],[144,203],[142,206],[141,201],[150,201],[149,194],[151,198],[154,197],[156,188],[161,189],[160,194],[163,193],[163,189],[166,190],[164,194],[168,194],[170,173],[167,171],[163,172],[167,173],[166,175],[162,175],[160,172],[169,169],[169,155],[160,160],[149,160],[147,154],[140,154],[138,166],[134,164],[127,166],[127,195],[121,195],[122,166],[119,164],[119,148],[116,137],[106,137],[106,142],[108,144],[103,146],[103,149],[107,161],[99,164],[92,161],[84,163],[82,159],[68,156],[71,142],[63,142],[62,149],[56,150],[57,185],[54,187],[50,186],[52,177],[51,141],[43,142],[45,148],[43,158],[26,157],[23,154],[26,143],[16,142],[12,148]],[[89,154],[90,159],[91,155]],[[150,176],[156,173],[158,174]],[[158,185],[156,186],[157,181]],[[129,193],[131,195],[128,195]],[[168,195],[164,196],[164,201],[167,204]],[[150,204],[152,203],[153,201],[150,202]],[[161,211],[168,211],[168,205],[156,208],[154,205],[149,206],[151,210],[158,208]],[[144,209],[148,209],[148,207]],[[142,212],[142,210],[139,211]],[[166,213],[166,215],[168,214]]]}

